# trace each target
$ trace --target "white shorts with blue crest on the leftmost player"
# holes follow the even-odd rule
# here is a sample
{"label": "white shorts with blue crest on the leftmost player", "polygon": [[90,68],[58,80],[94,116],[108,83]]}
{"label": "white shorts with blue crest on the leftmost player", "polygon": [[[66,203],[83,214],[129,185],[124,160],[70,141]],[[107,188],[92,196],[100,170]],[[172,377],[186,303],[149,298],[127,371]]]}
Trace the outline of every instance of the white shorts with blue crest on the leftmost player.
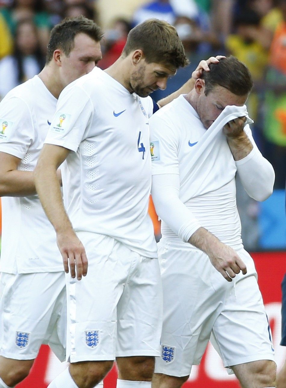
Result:
{"label": "white shorts with blue crest on the leftmost player", "polygon": [[0,355],[33,360],[48,344],[65,360],[64,272],[0,275]]}

